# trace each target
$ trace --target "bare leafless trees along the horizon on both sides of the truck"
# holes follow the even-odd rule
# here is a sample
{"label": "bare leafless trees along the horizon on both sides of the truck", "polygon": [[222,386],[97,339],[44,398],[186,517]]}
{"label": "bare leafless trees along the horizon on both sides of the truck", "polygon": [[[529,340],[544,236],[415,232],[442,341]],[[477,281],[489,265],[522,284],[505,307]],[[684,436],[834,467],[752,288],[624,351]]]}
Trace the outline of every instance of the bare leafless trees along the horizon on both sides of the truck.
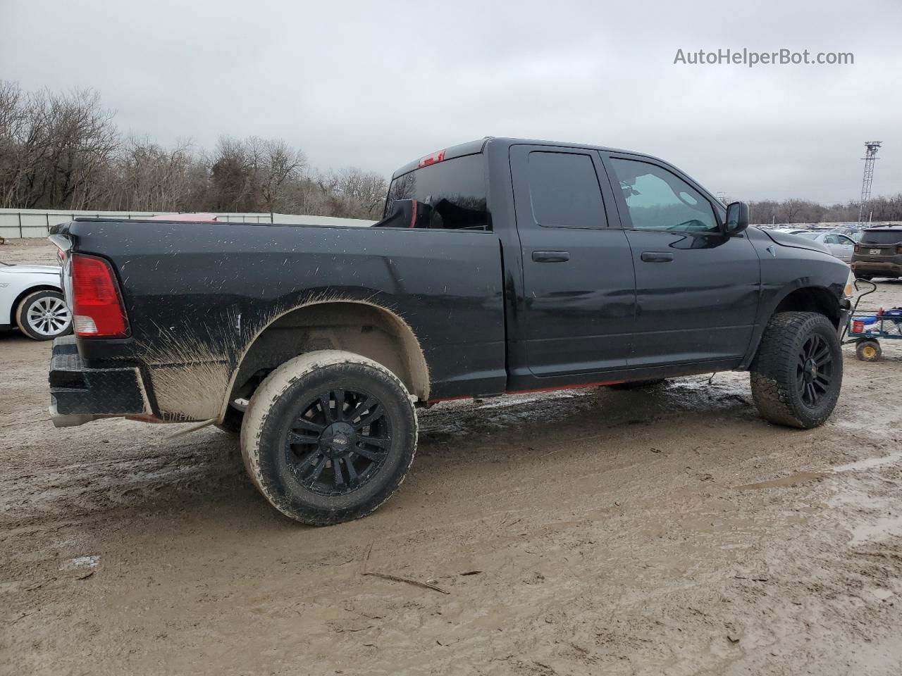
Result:
{"label": "bare leafless trees along the horizon on both sides of the truck", "polygon": [[[223,136],[212,153],[121,138],[97,92],[23,91],[0,80],[0,207],[135,211],[280,212],[382,217],[387,184],[355,167],[317,172],[281,139]],[[410,196],[396,181],[391,199]],[[758,223],[854,221],[858,203],[760,200]],[[902,221],[902,195],[875,197],[875,221]]]}

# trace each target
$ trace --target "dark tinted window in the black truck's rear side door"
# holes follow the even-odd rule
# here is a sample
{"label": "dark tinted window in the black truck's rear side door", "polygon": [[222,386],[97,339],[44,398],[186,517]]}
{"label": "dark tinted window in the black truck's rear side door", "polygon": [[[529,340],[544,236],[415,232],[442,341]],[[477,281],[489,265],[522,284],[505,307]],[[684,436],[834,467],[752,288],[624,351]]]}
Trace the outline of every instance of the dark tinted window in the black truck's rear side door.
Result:
{"label": "dark tinted window in the black truck's rear side door", "polygon": [[557,228],[607,226],[602,190],[588,155],[530,152],[528,173],[536,223]]}

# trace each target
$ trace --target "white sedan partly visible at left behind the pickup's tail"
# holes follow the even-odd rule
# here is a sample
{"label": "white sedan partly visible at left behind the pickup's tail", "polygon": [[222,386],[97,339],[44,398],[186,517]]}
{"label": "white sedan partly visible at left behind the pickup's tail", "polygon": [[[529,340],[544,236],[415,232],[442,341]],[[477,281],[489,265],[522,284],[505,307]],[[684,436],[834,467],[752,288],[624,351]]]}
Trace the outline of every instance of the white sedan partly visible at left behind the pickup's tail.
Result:
{"label": "white sedan partly visible at left behind the pickup's tail", "polygon": [[0,261],[0,329],[14,326],[36,341],[71,332],[72,313],[62,296],[58,267]]}

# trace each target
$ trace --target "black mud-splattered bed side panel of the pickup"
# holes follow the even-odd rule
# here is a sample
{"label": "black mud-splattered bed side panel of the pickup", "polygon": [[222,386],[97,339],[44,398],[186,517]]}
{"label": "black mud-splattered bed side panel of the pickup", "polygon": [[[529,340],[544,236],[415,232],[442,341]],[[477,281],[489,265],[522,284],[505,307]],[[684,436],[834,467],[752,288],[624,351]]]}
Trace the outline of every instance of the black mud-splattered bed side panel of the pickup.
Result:
{"label": "black mud-splattered bed side panel of the pickup", "polygon": [[[505,388],[501,245],[491,232],[78,219],[53,237],[115,269],[131,334],[76,343],[87,368],[138,374],[141,415],[216,418],[264,329],[288,328],[292,311],[326,301],[410,328],[428,362],[424,400]],[[60,359],[69,350],[63,343]],[[60,412],[77,410],[64,404],[76,395],[54,397]]]}

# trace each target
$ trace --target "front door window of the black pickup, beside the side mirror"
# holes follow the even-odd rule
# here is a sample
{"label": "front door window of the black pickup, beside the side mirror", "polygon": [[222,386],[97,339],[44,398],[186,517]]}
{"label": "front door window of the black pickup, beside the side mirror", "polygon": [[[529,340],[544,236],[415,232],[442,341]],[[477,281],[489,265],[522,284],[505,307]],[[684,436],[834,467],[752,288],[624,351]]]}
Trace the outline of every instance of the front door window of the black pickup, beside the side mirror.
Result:
{"label": "front door window of the black pickup, beside the side mirror", "polygon": [[711,203],[667,169],[638,160],[611,160],[635,230],[717,233]]}

